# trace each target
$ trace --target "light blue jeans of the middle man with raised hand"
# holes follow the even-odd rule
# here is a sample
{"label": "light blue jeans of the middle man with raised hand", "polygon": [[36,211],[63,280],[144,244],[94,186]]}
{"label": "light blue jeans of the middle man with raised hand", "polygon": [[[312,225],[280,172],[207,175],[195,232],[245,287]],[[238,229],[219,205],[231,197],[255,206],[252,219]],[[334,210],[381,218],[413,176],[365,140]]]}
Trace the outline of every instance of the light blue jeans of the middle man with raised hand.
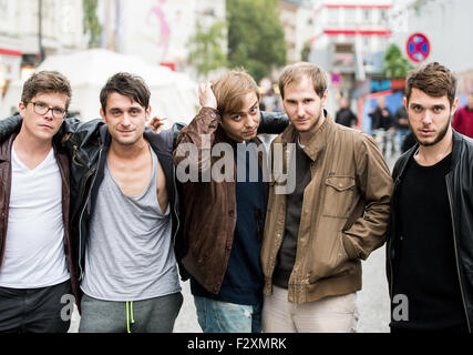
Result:
{"label": "light blue jeans of the middle man with raised hand", "polygon": [[194,296],[204,333],[261,333],[261,303],[243,305]]}

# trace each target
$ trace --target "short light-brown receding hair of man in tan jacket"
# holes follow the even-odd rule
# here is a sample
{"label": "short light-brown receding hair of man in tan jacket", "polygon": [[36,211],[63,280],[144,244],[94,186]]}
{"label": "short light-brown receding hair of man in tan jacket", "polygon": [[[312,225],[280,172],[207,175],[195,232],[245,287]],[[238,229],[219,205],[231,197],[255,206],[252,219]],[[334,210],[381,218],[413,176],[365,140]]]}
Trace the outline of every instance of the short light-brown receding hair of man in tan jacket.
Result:
{"label": "short light-brown receding hair of man in tan jacket", "polygon": [[323,70],[309,62],[298,62],[287,65],[279,77],[279,92],[284,99],[284,89],[286,85],[296,82],[299,83],[304,78],[312,80],[313,91],[322,98],[327,90],[327,77]]}

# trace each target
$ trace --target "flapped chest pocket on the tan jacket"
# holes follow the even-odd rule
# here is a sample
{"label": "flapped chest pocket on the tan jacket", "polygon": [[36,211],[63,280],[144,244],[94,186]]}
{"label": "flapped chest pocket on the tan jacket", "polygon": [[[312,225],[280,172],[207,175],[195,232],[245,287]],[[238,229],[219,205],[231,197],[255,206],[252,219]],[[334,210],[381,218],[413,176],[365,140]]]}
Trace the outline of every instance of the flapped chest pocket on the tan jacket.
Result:
{"label": "flapped chest pocket on the tan jacket", "polygon": [[329,176],[326,179],[326,196],[323,202],[323,215],[346,219],[353,209],[354,178]]}

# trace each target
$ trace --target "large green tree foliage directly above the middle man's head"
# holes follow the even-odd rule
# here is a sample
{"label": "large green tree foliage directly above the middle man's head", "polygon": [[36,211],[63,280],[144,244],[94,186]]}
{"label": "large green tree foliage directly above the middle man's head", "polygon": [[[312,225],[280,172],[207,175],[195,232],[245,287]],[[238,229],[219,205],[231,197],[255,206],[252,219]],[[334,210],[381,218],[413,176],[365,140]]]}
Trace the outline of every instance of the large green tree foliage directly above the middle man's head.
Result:
{"label": "large green tree foliage directly above the middle man's head", "polygon": [[271,67],[286,64],[286,41],[277,0],[227,1],[228,60],[245,68],[256,81]]}

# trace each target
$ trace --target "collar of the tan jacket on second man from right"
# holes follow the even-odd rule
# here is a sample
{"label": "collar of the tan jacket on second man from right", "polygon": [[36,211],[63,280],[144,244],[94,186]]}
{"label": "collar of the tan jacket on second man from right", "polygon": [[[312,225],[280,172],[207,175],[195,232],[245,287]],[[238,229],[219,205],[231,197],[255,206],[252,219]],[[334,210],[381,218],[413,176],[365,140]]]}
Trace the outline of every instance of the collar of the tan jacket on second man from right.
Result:
{"label": "collar of the tan jacket on second man from right", "polygon": [[[329,140],[329,136],[333,132],[335,129],[335,121],[329,115],[326,109],[323,109],[323,115],[326,116],[322,125],[320,125],[316,132],[313,132],[313,135],[311,136],[308,144],[305,145],[304,151],[306,154],[315,161],[317,156],[325,151],[327,146],[327,142]],[[297,136],[297,131],[294,128],[292,124],[289,124],[287,129],[281,134],[282,143],[295,143]]]}

